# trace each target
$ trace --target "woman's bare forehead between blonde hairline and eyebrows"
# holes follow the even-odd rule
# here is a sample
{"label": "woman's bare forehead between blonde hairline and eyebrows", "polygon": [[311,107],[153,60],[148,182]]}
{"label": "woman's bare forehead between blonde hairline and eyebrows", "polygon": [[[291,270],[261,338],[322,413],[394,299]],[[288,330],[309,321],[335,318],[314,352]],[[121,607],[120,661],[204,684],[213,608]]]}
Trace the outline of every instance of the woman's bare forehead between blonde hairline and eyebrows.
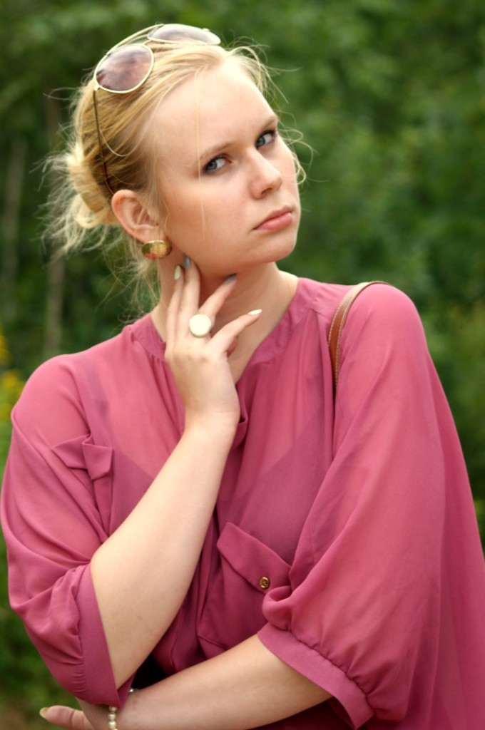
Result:
{"label": "woman's bare forehead between blonde hairline and eyebrows", "polygon": [[232,139],[237,131],[258,126],[270,105],[237,61],[196,74],[171,91],[155,116],[162,155],[176,150],[192,156],[206,146]]}

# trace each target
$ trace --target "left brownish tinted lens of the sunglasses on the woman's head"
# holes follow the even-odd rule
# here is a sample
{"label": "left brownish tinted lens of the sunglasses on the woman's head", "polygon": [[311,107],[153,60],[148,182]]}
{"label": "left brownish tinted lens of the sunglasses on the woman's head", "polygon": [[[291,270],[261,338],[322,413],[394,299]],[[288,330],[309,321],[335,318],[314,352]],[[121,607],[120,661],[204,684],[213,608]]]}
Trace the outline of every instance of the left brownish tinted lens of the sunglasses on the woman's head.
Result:
{"label": "left brownish tinted lens of the sunglasses on the woman's head", "polygon": [[96,81],[105,91],[132,91],[145,81],[153,55],[142,45],[124,46],[105,56],[96,69]]}

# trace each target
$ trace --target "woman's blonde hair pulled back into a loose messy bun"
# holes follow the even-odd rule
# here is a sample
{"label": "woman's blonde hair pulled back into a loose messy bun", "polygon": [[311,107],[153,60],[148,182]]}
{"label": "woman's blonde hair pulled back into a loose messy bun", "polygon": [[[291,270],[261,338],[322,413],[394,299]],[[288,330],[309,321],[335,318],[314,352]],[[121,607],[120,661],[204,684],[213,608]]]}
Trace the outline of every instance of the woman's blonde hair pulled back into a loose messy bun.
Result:
{"label": "woman's blonde hair pulled back into a loose messy bun", "polygon": [[[48,204],[47,237],[61,253],[82,247],[108,251],[122,244],[125,251],[131,252],[124,268],[145,283],[150,283],[150,272],[153,274],[156,267],[142,256],[140,245],[126,234],[113,215],[111,193],[105,180],[113,192],[122,188],[137,191],[144,197],[147,207],[161,215],[156,155],[144,142],[143,131],[164,97],[195,74],[229,59],[237,62],[264,96],[269,93],[275,96],[277,91],[269,69],[253,47],[225,49],[219,45],[190,42],[170,45],[150,42],[150,47],[155,59],[153,69],[139,89],[125,94],[109,93],[100,88],[94,92],[102,155],[91,77],[80,87],[72,103],[72,125],[66,129],[65,150],[47,161],[54,180]],[[299,169],[298,163],[297,167]]]}

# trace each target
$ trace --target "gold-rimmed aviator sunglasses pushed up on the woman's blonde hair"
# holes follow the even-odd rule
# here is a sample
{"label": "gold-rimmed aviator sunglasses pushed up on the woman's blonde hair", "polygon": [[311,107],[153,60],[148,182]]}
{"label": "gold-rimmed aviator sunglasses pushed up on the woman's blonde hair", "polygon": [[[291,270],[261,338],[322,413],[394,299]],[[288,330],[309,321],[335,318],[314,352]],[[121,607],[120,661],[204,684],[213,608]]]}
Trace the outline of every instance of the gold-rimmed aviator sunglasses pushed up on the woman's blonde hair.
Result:
{"label": "gold-rimmed aviator sunglasses pushed up on the woman's blonde hair", "polygon": [[[143,39],[145,40],[142,42]],[[189,42],[219,45],[221,43],[221,39],[208,31],[207,28],[185,26],[180,23],[162,23],[144,28],[142,31],[138,31],[120,41],[99,61],[96,69],[94,69],[93,76],[93,109],[104,185],[106,185],[111,195],[114,195],[114,191],[108,182],[103,145],[106,145],[113,154],[116,153],[107,144],[99,127],[96,91],[103,89],[103,91],[109,91],[110,93],[130,93],[139,89],[150,76],[155,64],[153,50],[147,45],[150,41],[167,44]]]}

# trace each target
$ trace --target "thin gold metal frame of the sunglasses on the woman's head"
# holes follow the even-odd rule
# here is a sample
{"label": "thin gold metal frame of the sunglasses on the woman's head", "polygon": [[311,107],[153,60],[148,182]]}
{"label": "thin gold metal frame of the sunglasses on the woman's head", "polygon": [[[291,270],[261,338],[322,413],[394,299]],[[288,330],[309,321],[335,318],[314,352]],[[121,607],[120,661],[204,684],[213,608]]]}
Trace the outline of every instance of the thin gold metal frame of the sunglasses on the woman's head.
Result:
{"label": "thin gold metal frame of the sunglasses on the woman's head", "polygon": [[[167,33],[173,32],[174,35],[177,34],[177,31],[180,32],[180,37],[173,37],[173,38],[159,38],[154,35],[156,31],[158,31],[160,28],[165,28]],[[189,31],[193,31],[194,35],[191,36],[189,34]],[[184,34],[185,33],[185,34]],[[202,39],[196,37],[196,34],[203,35],[205,34],[207,39]],[[144,42],[141,42],[141,40],[145,38]],[[140,42],[132,42],[137,41],[137,39],[140,39]],[[107,174],[107,167],[106,167],[106,160],[104,158],[104,152],[103,152],[103,145],[106,145],[107,148],[110,150],[110,152],[113,155],[116,155],[115,150],[112,150],[110,145],[108,145],[106,139],[104,139],[102,135],[101,128],[99,126],[99,115],[98,115],[98,105],[96,103],[96,91],[98,89],[102,89],[103,91],[107,91],[107,93],[131,93],[131,91],[137,91],[148,79],[151,72],[153,71],[153,66],[155,65],[155,54],[153,53],[153,50],[148,46],[148,42],[156,42],[156,43],[163,43],[165,45],[169,44],[180,44],[180,43],[202,43],[202,45],[220,45],[221,39],[215,35],[212,31],[209,31],[207,28],[197,28],[196,26],[187,26],[183,23],[156,23],[154,26],[148,26],[148,28],[143,28],[141,31],[137,31],[137,33],[131,34],[131,36],[128,36],[127,38],[123,39],[116,45],[114,45],[110,50],[104,54],[101,61],[99,61],[98,64],[96,64],[96,68],[94,69],[93,73],[93,110],[94,110],[94,120],[96,122],[96,132],[98,134],[98,144],[99,144],[99,155],[101,157],[101,164],[102,164],[102,171],[103,171],[103,179],[104,179],[104,185],[107,188],[107,191],[110,193],[111,196],[115,194],[115,192],[112,190],[110,183],[108,181],[108,174]],[[102,83],[98,80],[98,75],[100,69],[102,69],[102,64],[107,60],[107,58],[110,58],[114,53],[116,53],[118,50],[128,50],[130,48],[137,48],[137,49],[143,49],[146,50],[146,52],[150,55],[150,67],[147,72],[143,75],[142,79],[137,82],[136,85],[130,86],[128,89],[110,89],[106,86],[103,86]]]}

